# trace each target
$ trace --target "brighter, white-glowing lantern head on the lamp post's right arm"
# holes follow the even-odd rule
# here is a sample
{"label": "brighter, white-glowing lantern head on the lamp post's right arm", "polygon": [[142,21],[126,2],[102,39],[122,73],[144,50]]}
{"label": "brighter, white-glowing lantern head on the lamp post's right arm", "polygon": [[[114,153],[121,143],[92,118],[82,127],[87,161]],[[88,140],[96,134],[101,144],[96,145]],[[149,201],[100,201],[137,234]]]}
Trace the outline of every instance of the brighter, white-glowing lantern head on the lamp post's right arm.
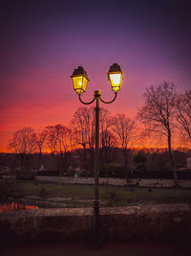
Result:
{"label": "brighter, white-glowing lantern head on the lamp post's right arm", "polygon": [[108,72],[108,80],[111,83],[112,90],[118,92],[121,87],[121,83],[123,80],[123,72],[120,69],[120,66],[117,63],[114,63],[110,66]]}

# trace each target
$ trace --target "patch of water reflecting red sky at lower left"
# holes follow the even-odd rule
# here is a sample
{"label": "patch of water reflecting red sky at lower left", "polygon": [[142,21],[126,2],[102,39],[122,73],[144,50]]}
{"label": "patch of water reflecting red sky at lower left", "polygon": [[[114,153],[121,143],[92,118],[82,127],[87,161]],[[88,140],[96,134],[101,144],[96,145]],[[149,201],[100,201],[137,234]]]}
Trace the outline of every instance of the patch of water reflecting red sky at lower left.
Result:
{"label": "patch of water reflecting red sky at lower left", "polygon": [[20,202],[12,201],[10,203],[0,203],[0,213],[19,211],[19,210],[36,210],[38,206],[31,204],[24,204]]}

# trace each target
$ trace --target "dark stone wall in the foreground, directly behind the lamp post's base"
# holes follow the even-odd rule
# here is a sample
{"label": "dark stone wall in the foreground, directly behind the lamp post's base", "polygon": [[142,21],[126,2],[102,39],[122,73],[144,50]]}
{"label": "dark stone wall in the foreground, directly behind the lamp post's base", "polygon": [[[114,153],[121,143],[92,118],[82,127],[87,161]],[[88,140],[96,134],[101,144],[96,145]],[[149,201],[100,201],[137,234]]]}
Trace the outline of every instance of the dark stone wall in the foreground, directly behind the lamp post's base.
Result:
{"label": "dark stone wall in the foreground, directly behind the lamp post's base", "polygon": [[[100,240],[175,241],[191,236],[191,204],[100,208]],[[0,243],[91,241],[92,208],[38,209],[0,214]]]}

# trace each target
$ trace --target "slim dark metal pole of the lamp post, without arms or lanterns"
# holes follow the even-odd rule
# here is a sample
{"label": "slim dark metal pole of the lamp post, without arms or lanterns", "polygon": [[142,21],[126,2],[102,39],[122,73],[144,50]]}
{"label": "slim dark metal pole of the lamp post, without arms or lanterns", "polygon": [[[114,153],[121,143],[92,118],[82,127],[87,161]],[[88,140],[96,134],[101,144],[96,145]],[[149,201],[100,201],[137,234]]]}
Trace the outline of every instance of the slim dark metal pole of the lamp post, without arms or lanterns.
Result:
{"label": "slim dark metal pole of the lamp post, without arms or lanterns", "polygon": [[95,246],[99,246],[99,200],[98,200],[98,173],[99,173],[99,97],[100,91],[95,91],[96,97],[96,151],[95,151],[95,200],[94,200],[94,225],[93,240]]}

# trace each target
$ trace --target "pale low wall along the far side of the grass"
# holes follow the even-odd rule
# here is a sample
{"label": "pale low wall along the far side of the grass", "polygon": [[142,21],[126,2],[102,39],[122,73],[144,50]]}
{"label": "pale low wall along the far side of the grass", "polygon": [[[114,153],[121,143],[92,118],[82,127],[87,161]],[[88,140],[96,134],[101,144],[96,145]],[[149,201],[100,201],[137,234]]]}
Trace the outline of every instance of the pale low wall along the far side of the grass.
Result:
{"label": "pale low wall along the far side of the grass", "polygon": [[[35,176],[35,180],[50,181],[70,184],[94,184],[94,177],[59,177],[59,176]],[[151,186],[151,187],[173,187],[175,185],[173,179],[161,179],[161,178],[130,178],[131,185],[138,186]],[[117,177],[99,177],[99,184],[111,184],[111,185],[125,185],[125,178]],[[191,188],[191,179],[180,179],[180,187]]]}

